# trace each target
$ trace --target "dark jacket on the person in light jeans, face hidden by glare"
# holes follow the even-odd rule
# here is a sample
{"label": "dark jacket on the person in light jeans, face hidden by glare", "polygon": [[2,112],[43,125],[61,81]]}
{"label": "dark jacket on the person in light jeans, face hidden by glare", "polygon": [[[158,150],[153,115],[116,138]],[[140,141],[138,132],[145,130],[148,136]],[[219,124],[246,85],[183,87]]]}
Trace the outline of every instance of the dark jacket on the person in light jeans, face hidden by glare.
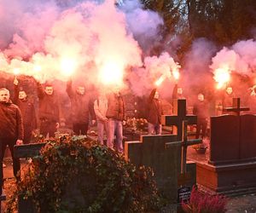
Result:
{"label": "dark jacket on the person in light jeans, face hidden by glare", "polygon": [[106,117],[119,121],[126,120],[125,101],[122,95],[116,95],[114,93],[108,94],[108,110]]}

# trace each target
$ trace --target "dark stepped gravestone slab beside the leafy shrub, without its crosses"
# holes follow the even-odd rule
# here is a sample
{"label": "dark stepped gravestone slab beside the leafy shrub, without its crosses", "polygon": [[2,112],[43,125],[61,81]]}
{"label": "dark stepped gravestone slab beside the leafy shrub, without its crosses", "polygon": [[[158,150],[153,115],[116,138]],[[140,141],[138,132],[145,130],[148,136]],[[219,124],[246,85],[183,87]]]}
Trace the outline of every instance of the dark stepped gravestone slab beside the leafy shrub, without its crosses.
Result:
{"label": "dark stepped gravestone slab beside the leafy shrub, without its crosses", "polygon": [[125,158],[137,166],[151,167],[157,187],[171,203],[177,200],[180,153],[177,135],[142,135],[140,141],[125,141]]}

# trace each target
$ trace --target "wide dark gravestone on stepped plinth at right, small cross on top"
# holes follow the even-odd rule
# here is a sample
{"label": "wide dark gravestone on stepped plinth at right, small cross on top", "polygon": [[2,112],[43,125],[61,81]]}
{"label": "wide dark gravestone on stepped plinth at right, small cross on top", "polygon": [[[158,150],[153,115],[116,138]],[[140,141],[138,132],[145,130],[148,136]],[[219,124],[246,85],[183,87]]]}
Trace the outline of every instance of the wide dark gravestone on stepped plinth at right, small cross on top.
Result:
{"label": "wide dark gravestone on stepped plinth at right, small cross on top", "polygon": [[240,115],[244,109],[238,100],[236,107],[230,108],[236,115],[211,118],[209,162],[196,164],[197,182],[204,191],[256,192],[256,116]]}

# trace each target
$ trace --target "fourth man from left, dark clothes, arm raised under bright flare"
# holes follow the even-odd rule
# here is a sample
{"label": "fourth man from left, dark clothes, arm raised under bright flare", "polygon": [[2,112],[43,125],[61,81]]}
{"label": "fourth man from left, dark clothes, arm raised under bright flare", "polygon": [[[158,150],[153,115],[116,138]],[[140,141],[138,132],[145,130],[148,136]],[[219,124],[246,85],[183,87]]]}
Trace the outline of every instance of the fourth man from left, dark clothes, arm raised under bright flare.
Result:
{"label": "fourth man from left, dark clothes, arm raised under bright flare", "polygon": [[75,135],[87,135],[90,118],[92,124],[96,123],[92,97],[85,94],[84,85],[79,85],[74,92],[71,78],[67,81],[66,91],[71,101],[73,132]]}

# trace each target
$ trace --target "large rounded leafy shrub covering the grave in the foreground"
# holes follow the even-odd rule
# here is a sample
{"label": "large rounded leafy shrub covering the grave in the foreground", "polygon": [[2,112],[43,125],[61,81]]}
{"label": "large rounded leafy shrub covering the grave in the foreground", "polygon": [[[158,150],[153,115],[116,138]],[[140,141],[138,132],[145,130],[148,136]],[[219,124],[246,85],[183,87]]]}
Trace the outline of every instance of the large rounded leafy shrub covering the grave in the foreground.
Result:
{"label": "large rounded leafy shrub covering the grave in the foreground", "polygon": [[9,201],[22,194],[37,212],[144,212],[160,198],[148,168],[136,168],[118,153],[68,136],[48,141]]}

